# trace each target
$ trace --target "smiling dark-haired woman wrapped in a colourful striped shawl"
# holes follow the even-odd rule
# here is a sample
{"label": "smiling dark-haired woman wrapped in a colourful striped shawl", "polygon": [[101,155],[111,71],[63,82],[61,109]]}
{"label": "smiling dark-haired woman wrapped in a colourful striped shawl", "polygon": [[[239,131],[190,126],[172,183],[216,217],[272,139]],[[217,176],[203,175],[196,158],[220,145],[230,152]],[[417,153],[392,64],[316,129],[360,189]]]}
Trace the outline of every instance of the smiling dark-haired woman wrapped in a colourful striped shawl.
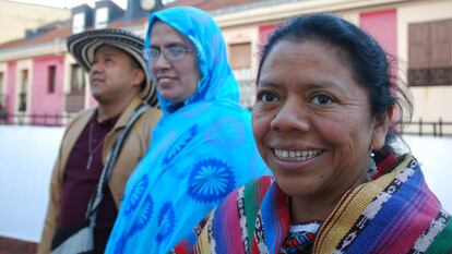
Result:
{"label": "smiling dark-haired woman wrapped in a colourful striped shawl", "polygon": [[233,192],[195,247],[191,238],[175,251],[452,252],[450,215],[417,160],[394,148],[397,117],[412,110],[406,98],[381,47],[355,25],[312,14],[277,28],[252,112],[274,179]]}

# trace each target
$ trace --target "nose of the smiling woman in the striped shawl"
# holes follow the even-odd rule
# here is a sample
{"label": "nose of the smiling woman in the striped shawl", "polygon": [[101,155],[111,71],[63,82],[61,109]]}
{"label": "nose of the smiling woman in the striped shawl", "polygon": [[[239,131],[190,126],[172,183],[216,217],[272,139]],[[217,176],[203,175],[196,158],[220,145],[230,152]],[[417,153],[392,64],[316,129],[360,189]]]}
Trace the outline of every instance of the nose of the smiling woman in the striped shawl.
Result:
{"label": "nose of the smiling woman in the striped shawl", "polygon": [[309,131],[309,117],[307,109],[299,102],[285,101],[271,121],[270,126],[274,131]]}

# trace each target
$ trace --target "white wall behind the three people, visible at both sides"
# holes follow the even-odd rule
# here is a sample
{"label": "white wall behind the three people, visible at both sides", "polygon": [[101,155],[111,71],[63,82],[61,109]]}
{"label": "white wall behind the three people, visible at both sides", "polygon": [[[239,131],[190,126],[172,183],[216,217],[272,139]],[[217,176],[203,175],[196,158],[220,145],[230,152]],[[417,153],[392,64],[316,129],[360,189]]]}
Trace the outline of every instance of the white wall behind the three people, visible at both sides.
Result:
{"label": "white wall behind the three people, visible at both sides", "polygon": [[[39,241],[62,128],[0,125],[0,235]],[[430,189],[452,213],[452,138],[406,136]]]}

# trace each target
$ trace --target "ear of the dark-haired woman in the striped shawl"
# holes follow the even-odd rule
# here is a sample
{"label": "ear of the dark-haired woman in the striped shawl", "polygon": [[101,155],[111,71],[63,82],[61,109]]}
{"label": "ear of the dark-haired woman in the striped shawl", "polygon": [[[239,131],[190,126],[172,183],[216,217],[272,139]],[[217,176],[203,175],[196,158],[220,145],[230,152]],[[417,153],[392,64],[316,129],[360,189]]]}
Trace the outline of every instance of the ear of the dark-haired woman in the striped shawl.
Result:
{"label": "ear of the dark-haired woman in the striped shawl", "polygon": [[371,145],[376,150],[381,149],[384,145],[394,111],[394,106],[391,106],[384,113],[376,117],[371,141]]}

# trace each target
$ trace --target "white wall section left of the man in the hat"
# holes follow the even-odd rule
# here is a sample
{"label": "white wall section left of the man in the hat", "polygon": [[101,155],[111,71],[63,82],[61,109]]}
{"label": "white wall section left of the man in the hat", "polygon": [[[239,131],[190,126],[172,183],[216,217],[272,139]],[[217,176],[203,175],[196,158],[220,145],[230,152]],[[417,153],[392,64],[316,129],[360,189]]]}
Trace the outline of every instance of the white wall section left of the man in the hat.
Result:
{"label": "white wall section left of the man in the hat", "polygon": [[63,130],[0,125],[0,235],[39,241]]}

